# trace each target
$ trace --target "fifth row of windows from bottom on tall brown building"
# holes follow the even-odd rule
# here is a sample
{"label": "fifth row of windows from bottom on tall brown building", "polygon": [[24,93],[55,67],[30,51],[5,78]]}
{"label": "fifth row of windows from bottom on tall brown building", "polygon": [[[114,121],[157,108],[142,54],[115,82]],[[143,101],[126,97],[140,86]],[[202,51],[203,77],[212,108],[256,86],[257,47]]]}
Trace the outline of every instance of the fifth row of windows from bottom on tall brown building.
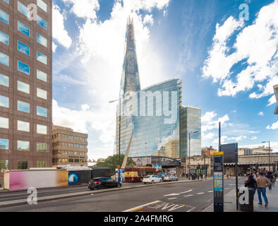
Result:
{"label": "fifth row of windows from bottom on tall brown building", "polygon": [[[4,76],[4,75],[0,74],[0,85],[9,87],[8,76]],[[23,83],[22,81],[18,80],[18,91],[30,94],[30,85],[28,83]],[[37,97],[47,100],[47,91],[37,88]],[[3,106],[3,107],[5,107],[5,106]]]}

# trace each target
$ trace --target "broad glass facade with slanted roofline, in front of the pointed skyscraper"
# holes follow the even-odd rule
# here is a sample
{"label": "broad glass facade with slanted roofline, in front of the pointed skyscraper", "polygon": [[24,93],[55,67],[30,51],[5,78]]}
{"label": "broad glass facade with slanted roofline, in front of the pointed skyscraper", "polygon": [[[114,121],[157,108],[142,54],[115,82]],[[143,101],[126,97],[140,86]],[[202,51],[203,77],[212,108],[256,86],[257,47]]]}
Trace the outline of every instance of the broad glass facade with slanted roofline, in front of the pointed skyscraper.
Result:
{"label": "broad glass facade with slanted roofline, in front of the pointed skyscraper", "polygon": [[[126,153],[131,141],[130,157],[179,158],[180,93],[181,81],[176,78],[140,90],[135,94],[134,106],[128,104],[128,97],[124,98],[121,103],[121,153]],[[126,115],[126,108],[133,109],[133,115]],[[119,117],[117,119],[116,153],[119,152]]]}

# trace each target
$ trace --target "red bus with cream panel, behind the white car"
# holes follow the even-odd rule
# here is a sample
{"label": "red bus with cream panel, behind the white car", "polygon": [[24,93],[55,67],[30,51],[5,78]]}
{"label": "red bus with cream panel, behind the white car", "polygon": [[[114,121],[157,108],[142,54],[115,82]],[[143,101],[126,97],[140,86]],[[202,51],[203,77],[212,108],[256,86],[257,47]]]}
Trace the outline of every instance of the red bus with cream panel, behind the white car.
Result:
{"label": "red bus with cream panel, behind the white car", "polygon": [[126,167],[124,179],[126,182],[142,182],[143,177],[147,175],[158,174],[162,169],[146,165],[145,167]]}

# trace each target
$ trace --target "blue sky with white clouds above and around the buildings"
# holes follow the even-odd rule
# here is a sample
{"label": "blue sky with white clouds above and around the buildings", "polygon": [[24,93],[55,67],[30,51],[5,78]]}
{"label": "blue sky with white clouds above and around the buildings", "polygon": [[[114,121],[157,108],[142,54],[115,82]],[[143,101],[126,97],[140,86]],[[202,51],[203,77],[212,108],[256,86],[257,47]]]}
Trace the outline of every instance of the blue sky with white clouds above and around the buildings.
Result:
{"label": "blue sky with white clouds above and around the buildings", "polygon": [[277,11],[277,0],[54,0],[54,124],[88,133],[91,159],[113,154],[108,102],[119,95],[131,15],[142,88],[179,76],[183,105],[202,109],[202,146],[217,147],[222,121],[222,143],[271,141],[278,151]]}

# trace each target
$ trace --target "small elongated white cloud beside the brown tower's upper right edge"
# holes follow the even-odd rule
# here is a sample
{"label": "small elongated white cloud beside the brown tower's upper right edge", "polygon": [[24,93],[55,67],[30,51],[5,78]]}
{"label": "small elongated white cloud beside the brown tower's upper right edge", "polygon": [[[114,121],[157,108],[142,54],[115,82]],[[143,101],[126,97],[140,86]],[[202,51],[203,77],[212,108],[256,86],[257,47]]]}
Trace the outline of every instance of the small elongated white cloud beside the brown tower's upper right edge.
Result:
{"label": "small elongated white cloud beside the brown tower's upper right edge", "polygon": [[[65,17],[60,13],[59,6],[53,5],[52,11],[52,20],[53,20],[53,28],[52,28],[52,36],[53,38],[59,42],[62,46],[68,49],[71,47],[71,37],[68,36],[68,32],[64,27],[64,19]],[[56,45],[55,45],[56,46]],[[54,46],[54,49],[56,49]]]}

